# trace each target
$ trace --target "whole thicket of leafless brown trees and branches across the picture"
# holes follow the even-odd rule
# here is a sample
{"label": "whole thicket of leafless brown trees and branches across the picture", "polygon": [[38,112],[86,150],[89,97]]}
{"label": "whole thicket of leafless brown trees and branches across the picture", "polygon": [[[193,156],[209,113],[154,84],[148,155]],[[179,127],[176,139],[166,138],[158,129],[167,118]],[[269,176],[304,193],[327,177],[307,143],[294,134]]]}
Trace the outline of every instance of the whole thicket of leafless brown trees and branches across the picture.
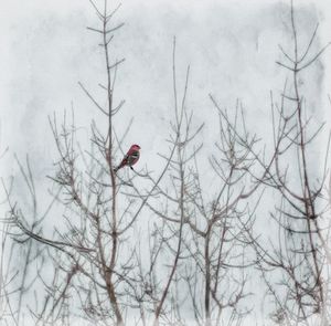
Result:
{"label": "whole thicket of leafless brown trees and branches across the picture", "polygon": [[[115,92],[124,59],[113,60],[111,42],[122,24],[113,24],[119,7],[90,3],[99,24],[88,30],[105,64],[104,80],[92,82],[104,97],[78,84],[104,119],[90,122],[90,141],[83,144],[74,111],[50,117],[57,160],[47,176],[49,204],[40,203],[29,157],[17,158],[24,202],[15,180],[2,181],[9,210],[1,224],[0,324],[247,325],[265,292],[268,325],[330,325],[330,137],[321,168],[311,148],[325,130],[313,128],[311,115],[320,112],[299,83],[329,44],[313,52],[317,29],[300,44],[291,6],[293,49],[280,46],[277,62],[287,82],[281,94],[270,93],[273,146],[264,148],[246,125],[241,102],[225,109],[213,94],[218,138],[206,160],[204,124],[196,125],[186,101],[190,66],[185,74],[177,67],[174,39],[173,105],[158,154],[163,166],[115,173],[132,123],[114,123],[125,103]],[[200,172],[206,161],[207,177]],[[270,230],[260,234],[258,208],[268,196],[275,207],[263,218]]]}

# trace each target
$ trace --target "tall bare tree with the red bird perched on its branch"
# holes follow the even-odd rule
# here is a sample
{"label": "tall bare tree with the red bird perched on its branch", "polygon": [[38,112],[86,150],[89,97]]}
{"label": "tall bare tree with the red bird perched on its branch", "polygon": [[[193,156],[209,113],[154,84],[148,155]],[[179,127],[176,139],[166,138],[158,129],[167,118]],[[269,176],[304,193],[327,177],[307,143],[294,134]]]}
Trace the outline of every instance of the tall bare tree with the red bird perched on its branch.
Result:
{"label": "tall bare tree with the red bird perched on its branch", "polygon": [[[124,24],[111,25],[114,14],[120,6],[111,11],[108,9],[107,0],[104,1],[103,10],[95,2],[90,1],[90,3],[102,25],[100,28],[88,27],[88,30],[99,35],[102,40],[99,45],[104,51],[106,74],[105,83],[99,83],[98,86],[106,94],[106,106],[99,104],[104,101],[92,95],[83,83],[78,84],[94,106],[106,117],[105,130],[102,124],[99,126],[93,120],[90,148],[83,148],[74,111],[71,117],[65,112],[62,123],[57,122],[56,115],[50,117],[58,155],[55,175],[49,176],[52,181],[53,201],[56,202],[56,208],[52,212],[46,211],[56,220],[52,235],[43,232],[42,222],[46,214],[40,217],[36,209],[33,209],[33,215],[38,221],[33,222],[28,214],[29,208],[21,209],[8,193],[10,206],[8,222],[15,229],[13,236],[18,241],[24,239],[21,241],[24,243],[29,239],[29,243],[34,240],[43,244],[52,261],[51,277],[36,273],[46,290],[46,295],[43,301],[36,299],[35,307],[30,308],[35,324],[41,325],[70,324],[68,306],[73,302],[78,304],[75,305],[72,314],[81,315],[82,318],[97,320],[105,325],[125,324],[127,314],[131,314],[131,309],[135,311],[137,307],[137,302],[141,302],[141,294],[137,288],[142,287],[142,280],[136,278],[136,271],[139,269],[135,250],[137,243],[127,239],[135,239],[138,217],[148,200],[158,194],[158,185],[179,148],[179,143],[175,141],[164,167],[156,179],[149,177],[149,173],[138,171],[132,172],[128,179],[120,173],[116,175],[114,168],[117,154],[121,150],[131,122],[121,135],[115,130],[114,116],[120,112],[125,103],[119,101],[117,105],[114,104],[117,70],[124,59],[113,63],[109,48],[114,33]],[[33,194],[31,200],[34,208],[38,197],[30,166],[28,164],[26,170],[21,165],[20,167],[23,179]],[[140,180],[146,179],[149,189],[143,196],[135,198],[128,194],[130,192],[128,189],[137,189],[135,186],[137,177]],[[175,265],[177,263],[168,285],[162,288],[162,298],[156,309],[156,320],[161,313]]]}

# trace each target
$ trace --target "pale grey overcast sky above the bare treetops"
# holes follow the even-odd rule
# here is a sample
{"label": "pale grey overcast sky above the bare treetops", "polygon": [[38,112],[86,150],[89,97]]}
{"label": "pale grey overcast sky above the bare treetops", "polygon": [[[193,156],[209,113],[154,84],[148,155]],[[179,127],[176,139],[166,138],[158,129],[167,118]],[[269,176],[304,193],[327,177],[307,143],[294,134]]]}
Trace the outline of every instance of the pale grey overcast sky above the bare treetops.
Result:
{"label": "pale grey overcast sky above the bare treetops", "polygon": [[[11,153],[22,155],[29,151],[41,162],[52,151],[47,115],[62,113],[73,103],[81,126],[98,117],[77,85],[81,81],[97,92],[103,81],[98,39],[86,30],[98,21],[87,0],[0,3],[1,148],[10,146]],[[319,20],[322,40],[330,40],[330,1],[295,3],[300,8],[303,36],[309,38]],[[141,145],[146,154],[141,164],[152,158],[168,136],[173,36],[179,82],[183,83],[190,64],[189,105],[196,123],[206,120],[209,137],[215,117],[209,93],[223,107],[233,107],[241,98],[255,123],[266,115],[269,91],[279,91],[284,83],[285,74],[275,61],[280,57],[278,44],[289,44],[288,4],[266,0],[122,1],[114,21],[126,23],[116,34],[113,52],[114,59],[126,57],[117,84],[117,99],[125,98],[126,105],[117,129],[135,117],[127,146]],[[324,59],[324,63],[330,61],[330,53]],[[317,67],[320,80],[311,86],[314,95],[316,88],[321,94],[325,91],[321,90],[325,87],[322,72],[323,66]]]}

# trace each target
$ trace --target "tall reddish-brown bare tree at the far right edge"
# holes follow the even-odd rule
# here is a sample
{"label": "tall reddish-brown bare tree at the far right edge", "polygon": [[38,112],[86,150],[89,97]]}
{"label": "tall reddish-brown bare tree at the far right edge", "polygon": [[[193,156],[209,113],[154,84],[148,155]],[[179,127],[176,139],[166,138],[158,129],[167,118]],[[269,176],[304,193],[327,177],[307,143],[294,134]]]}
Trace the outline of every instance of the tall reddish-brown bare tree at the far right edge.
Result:
{"label": "tall reddish-brown bare tree at the far right edge", "polygon": [[[313,109],[309,107],[300,82],[301,74],[319,60],[330,43],[312,53],[317,27],[308,44],[305,48],[299,44],[292,3],[290,28],[293,50],[290,53],[279,45],[285,61],[277,64],[287,71],[292,82],[290,85],[285,83],[279,104],[270,94],[274,136],[270,159],[236,134],[237,141],[249,150],[263,170],[261,176],[254,175],[256,181],[263,182],[271,196],[279,196],[279,202],[270,213],[278,225],[277,236],[270,234],[269,246],[266,246],[266,240],[258,240],[247,229],[247,241],[254,244],[257,267],[275,304],[273,319],[281,325],[329,325],[328,265],[331,260],[327,217],[330,210],[324,190],[330,136],[322,145],[325,147],[324,159],[314,158],[313,149],[319,146],[323,125],[313,129]],[[235,126],[232,125],[232,129],[235,130]],[[317,159],[323,164],[317,164]]]}

